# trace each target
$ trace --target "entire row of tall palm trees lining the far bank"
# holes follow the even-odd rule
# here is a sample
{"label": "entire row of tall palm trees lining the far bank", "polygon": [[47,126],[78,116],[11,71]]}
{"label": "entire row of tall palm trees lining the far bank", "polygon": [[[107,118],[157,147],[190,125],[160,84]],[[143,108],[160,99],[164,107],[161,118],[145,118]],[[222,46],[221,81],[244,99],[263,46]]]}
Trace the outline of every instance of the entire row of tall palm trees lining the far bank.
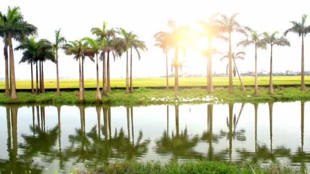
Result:
{"label": "entire row of tall palm trees lining the far bank", "polygon": [[[240,41],[237,46],[255,46],[255,88],[254,94],[258,95],[258,84],[257,84],[257,49],[266,49],[267,45],[271,47],[270,57],[270,87],[269,94],[273,94],[273,81],[272,81],[272,50],[273,46],[290,46],[290,42],[285,36],[292,32],[297,33],[302,37],[302,59],[301,59],[301,90],[305,89],[304,83],[304,47],[303,40],[307,33],[310,32],[310,26],[305,24],[307,15],[302,16],[301,22],[292,21],[293,26],[289,28],[284,36],[278,37],[278,32],[272,34],[262,33],[259,34],[254,30],[251,30],[247,26],[242,26],[236,20],[237,14],[230,17],[223,14],[217,14],[212,16],[208,22],[198,21],[197,23],[202,27],[202,31],[191,35],[192,30],[187,25],[178,26],[174,21],[169,20],[168,25],[171,28],[170,32],[159,32],[154,35],[156,40],[156,46],[163,49],[166,54],[166,85],[168,89],[168,51],[172,48],[175,49],[174,58],[172,60],[172,69],[175,71],[175,97],[178,96],[178,69],[182,70],[184,62],[178,62],[179,51],[185,53],[186,48],[192,45],[193,38],[203,37],[208,41],[208,47],[202,50],[202,55],[207,59],[207,86],[208,92],[214,93],[212,84],[212,57],[214,54],[219,53],[217,49],[212,48],[214,39],[221,39],[228,41],[228,52],[222,57],[228,58],[228,76],[229,76],[229,93],[234,93],[233,88],[233,62],[234,69],[237,70],[239,80],[241,83],[242,90],[245,91],[242,79],[239,75],[236,59],[243,59],[244,52],[237,52],[236,54],[231,48],[231,36],[234,33],[241,33],[246,38]],[[80,92],[79,99],[83,100],[84,91],[84,62],[85,58],[88,57],[92,62],[96,62],[97,71],[97,85],[96,85],[96,99],[100,100],[101,95],[106,96],[107,92],[111,90],[110,82],[110,53],[113,55],[115,60],[116,57],[122,56],[126,53],[126,93],[133,93],[133,49],[137,52],[138,58],[140,59],[140,51],[146,51],[146,45],[143,41],[139,40],[139,37],[133,32],[127,32],[123,28],[107,28],[107,23],[104,22],[102,27],[91,28],[91,33],[96,36],[95,39],[85,37],[80,40],[69,41],[61,35],[60,29],[55,31],[55,41],[49,42],[48,40],[41,39],[36,41],[33,36],[37,35],[37,28],[24,21],[22,14],[20,13],[19,7],[8,8],[7,14],[0,13],[0,36],[4,40],[4,55],[5,55],[5,81],[6,88],[5,93],[11,95],[12,99],[17,99],[16,85],[15,85],[15,73],[14,73],[14,51],[12,40],[19,42],[19,45],[15,50],[23,50],[22,58],[19,63],[31,64],[31,71],[33,71],[33,65],[36,65],[36,90],[33,85],[33,72],[32,74],[32,92],[33,93],[44,93],[44,72],[43,63],[45,61],[52,61],[56,63],[57,70],[57,95],[60,95],[59,88],[59,50],[63,49],[67,55],[74,55],[74,59],[79,61],[79,72],[80,72]],[[32,37],[31,37],[32,36]],[[9,51],[8,51],[9,48]],[[130,51],[130,60],[128,60],[128,52]],[[99,55],[99,57],[98,57]],[[106,59],[107,55],[107,59]],[[98,60],[102,60],[102,93],[100,95],[99,89],[99,74],[98,74]],[[130,61],[130,72],[129,72],[129,61]],[[10,66],[9,66],[10,64]],[[38,70],[39,64],[39,70]],[[9,71],[10,70],[10,71]],[[38,73],[39,71],[39,73]],[[10,79],[9,79],[10,73]],[[130,78],[129,78],[130,73]],[[39,74],[39,77],[38,77]],[[38,78],[40,80],[38,80]]]}

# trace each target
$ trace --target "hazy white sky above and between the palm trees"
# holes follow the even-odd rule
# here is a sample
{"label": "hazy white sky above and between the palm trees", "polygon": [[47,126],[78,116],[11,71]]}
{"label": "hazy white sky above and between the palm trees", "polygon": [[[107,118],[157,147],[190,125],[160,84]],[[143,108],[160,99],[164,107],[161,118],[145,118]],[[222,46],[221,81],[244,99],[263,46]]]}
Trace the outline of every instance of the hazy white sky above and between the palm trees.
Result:
{"label": "hazy white sky above and between the palm trees", "polygon": [[[223,13],[231,15],[239,13],[237,19],[241,25],[249,26],[259,32],[279,31],[281,34],[291,24],[289,21],[301,20],[301,15],[308,12],[308,1],[22,1],[3,0],[0,11],[6,13],[8,6],[19,6],[24,19],[38,27],[39,38],[46,38],[54,42],[54,31],[61,27],[62,35],[67,40],[76,40],[85,36],[92,36],[91,27],[102,26],[102,22],[108,22],[108,27],[123,27],[127,31],[133,31],[141,40],[145,41],[148,51],[142,53],[138,61],[134,54],[134,77],[152,77],[165,75],[165,55],[162,50],[154,47],[153,34],[159,31],[169,31],[168,19],[175,20],[178,24],[194,26],[197,20],[207,21],[213,14]],[[307,20],[310,24],[310,16]],[[94,36],[93,36],[94,37]],[[235,45],[242,38],[233,36]],[[291,47],[275,47],[273,50],[274,71],[300,70],[301,39],[295,34],[289,34]],[[305,70],[310,70],[310,53],[307,51],[310,45],[305,39]],[[13,46],[16,46],[14,43]],[[213,45],[223,52],[227,51],[228,43],[216,42]],[[3,50],[3,42],[0,42]],[[246,59],[238,61],[239,71],[254,70],[254,48],[234,47],[235,52],[245,51]],[[169,59],[173,57],[173,51]],[[17,79],[30,78],[30,65],[17,63],[21,52],[15,51],[15,73]],[[3,51],[0,51],[0,57]],[[226,62],[220,62],[219,57],[213,59],[213,70],[225,72]],[[189,50],[186,59],[188,68],[183,72],[205,73],[205,58],[198,51]],[[258,70],[269,71],[270,49],[258,52]],[[72,56],[59,55],[60,77],[79,78],[79,69]],[[101,65],[100,63],[99,65]],[[168,63],[171,64],[171,61]],[[0,59],[0,77],[4,77],[4,59]],[[46,78],[56,78],[56,66],[53,63],[44,64]],[[102,67],[99,68],[102,74]],[[86,60],[85,78],[95,78],[95,64]],[[169,67],[169,72],[170,67]],[[125,76],[125,56],[111,61],[111,76]]]}

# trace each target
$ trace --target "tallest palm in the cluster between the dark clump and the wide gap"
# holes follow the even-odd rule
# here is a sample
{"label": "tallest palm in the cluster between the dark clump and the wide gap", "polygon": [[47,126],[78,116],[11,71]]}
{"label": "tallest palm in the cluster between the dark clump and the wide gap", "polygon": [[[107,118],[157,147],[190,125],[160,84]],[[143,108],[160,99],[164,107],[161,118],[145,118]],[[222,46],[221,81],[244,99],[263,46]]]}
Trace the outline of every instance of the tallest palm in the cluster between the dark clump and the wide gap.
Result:
{"label": "tallest palm in the cluster between the dark clump and the wide gap", "polygon": [[[109,31],[107,29],[107,22],[104,21],[102,24],[102,28],[99,27],[93,27],[91,28],[91,33],[93,35],[96,35],[100,38],[102,42],[105,42],[106,44],[103,44],[101,47],[101,54],[102,54],[102,95],[107,95],[107,76],[106,76],[106,52],[107,52],[107,37],[113,36],[115,33],[114,31]],[[110,74],[110,73],[109,73]]]}

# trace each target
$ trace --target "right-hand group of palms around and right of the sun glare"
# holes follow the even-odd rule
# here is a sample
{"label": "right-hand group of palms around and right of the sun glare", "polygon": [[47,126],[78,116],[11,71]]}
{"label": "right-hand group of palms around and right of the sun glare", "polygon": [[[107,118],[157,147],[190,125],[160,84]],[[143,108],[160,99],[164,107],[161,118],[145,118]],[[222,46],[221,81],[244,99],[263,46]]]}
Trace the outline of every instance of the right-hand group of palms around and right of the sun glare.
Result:
{"label": "right-hand group of palms around and right of the sun glare", "polygon": [[[237,20],[237,13],[232,16],[226,16],[223,14],[216,14],[212,16],[208,22],[198,21],[202,27],[202,31],[196,33],[195,36],[206,38],[208,41],[208,47],[201,51],[201,54],[206,57],[207,65],[206,70],[208,74],[207,86],[208,92],[214,93],[214,88],[212,84],[212,56],[214,54],[220,53],[217,49],[212,48],[213,39],[221,39],[228,41],[228,52],[224,55],[221,60],[228,58],[228,72],[229,72],[229,93],[234,93],[233,88],[233,62],[234,69],[237,70],[239,80],[241,83],[241,89],[245,91],[244,84],[239,75],[236,59],[244,59],[244,52],[235,52],[231,48],[231,36],[234,33],[240,33],[245,36],[245,39],[240,41],[237,46],[249,46],[254,45],[255,47],[255,85],[254,85],[254,95],[259,95],[259,89],[257,84],[257,49],[262,48],[266,49],[267,45],[270,45],[271,55],[270,55],[270,81],[269,81],[269,94],[273,94],[273,80],[272,80],[272,51],[274,46],[290,46],[290,42],[285,37],[288,33],[296,33],[299,37],[302,37],[302,56],[301,56],[301,90],[305,90],[304,83],[304,48],[303,48],[303,39],[306,34],[310,32],[310,25],[305,24],[307,15],[302,16],[301,22],[291,21],[293,26],[285,31],[283,36],[278,37],[279,32],[273,32],[271,34],[258,33],[257,31],[252,30],[247,26],[242,26]],[[176,27],[175,22],[169,20],[168,25],[171,28],[170,32],[158,32],[154,35],[156,40],[156,46],[163,49],[163,52],[166,54],[166,86],[168,89],[168,51],[172,48],[175,49],[175,55],[172,60],[172,66],[175,69],[175,97],[177,97],[178,91],[178,68],[184,66],[183,63],[178,63],[178,49],[181,47],[185,49],[187,46],[190,46],[191,43],[188,40],[193,38],[193,35],[190,35],[190,28],[187,26],[178,26]],[[191,38],[189,38],[191,37]]]}

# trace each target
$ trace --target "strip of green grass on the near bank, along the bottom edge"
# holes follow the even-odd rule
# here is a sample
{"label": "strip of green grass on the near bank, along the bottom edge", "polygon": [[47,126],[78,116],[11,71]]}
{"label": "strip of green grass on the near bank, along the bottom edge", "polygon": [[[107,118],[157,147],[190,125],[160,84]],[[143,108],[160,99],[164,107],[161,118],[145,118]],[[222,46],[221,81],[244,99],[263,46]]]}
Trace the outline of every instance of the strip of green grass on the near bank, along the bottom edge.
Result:
{"label": "strip of green grass on the near bank, along the bottom edge", "polygon": [[306,173],[305,169],[287,167],[280,164],[270,164],[266,167],[242,166],[223,162],[117,162],[90,171],[74,170],[72,174],[80,173]]}

